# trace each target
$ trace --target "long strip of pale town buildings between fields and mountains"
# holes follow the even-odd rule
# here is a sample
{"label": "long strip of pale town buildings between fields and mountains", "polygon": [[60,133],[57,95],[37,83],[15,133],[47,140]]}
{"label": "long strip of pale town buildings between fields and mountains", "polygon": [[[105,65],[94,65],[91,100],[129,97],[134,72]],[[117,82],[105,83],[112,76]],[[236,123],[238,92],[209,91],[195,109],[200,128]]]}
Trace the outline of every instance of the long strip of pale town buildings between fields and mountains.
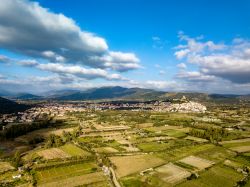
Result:
{"label": "long strip of pale town buildings between fields and mountains", "polygon": [[196,102],[172,104],[165,101],[147,102],[99,102],[99,103],[46,103],[37,105],[17,114],[0,115],[0,122],[33,122],[45,116],[63,117],[68,112],[83,112],[86,110],[132,110],[132,111],[157,111],[157,112],[200,112],[204,113],[206,107]]}

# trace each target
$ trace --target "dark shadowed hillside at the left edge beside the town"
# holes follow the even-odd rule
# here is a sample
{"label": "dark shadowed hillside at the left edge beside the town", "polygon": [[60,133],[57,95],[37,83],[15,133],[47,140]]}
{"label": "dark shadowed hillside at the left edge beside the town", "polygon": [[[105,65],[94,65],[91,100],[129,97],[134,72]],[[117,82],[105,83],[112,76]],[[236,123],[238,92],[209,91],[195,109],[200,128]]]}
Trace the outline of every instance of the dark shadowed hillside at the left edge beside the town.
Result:
{"label": "dark shadowed hillside at the left edge beside the town", "polygon": [[21,112],[29,108],[28,105],[18,104],[2,97],[0,97],[0,106],[0,114]]}

